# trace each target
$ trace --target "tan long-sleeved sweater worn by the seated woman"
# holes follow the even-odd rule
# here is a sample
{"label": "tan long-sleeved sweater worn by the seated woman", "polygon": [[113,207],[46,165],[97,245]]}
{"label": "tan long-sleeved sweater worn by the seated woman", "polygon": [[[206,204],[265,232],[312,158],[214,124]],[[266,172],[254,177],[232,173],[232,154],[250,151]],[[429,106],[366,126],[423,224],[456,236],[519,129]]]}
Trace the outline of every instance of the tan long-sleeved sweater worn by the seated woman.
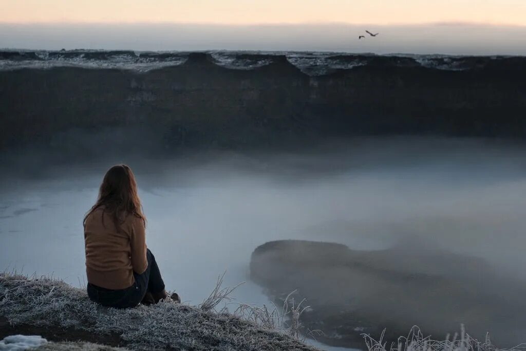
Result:
{"label": "tan long-sleeved sweater worn by the seated woman", "polygon": [[146,235],[143,220],[128,215],[117,233],[113,219],[101,208],[86,218],[84,243],[88,282],[106,289],[125,289],[135,282],[133,272],[143,273]]}

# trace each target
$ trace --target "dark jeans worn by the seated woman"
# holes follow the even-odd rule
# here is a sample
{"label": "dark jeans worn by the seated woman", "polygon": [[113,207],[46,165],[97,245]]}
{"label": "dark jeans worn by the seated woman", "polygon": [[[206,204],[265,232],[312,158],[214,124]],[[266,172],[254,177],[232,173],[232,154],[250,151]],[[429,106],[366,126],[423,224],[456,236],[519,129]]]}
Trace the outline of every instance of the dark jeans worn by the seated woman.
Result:
{"label": "dark jeans worn by the seated woman", "polygon": [[107,307],[128,308],[137,306],[146,293],[160,293],[165,285],[155,257],[150,249],[146,250],[148,268],[143,274],[133,273],[135,283],[126,289],[111,290],[88,283],[89,299]]}

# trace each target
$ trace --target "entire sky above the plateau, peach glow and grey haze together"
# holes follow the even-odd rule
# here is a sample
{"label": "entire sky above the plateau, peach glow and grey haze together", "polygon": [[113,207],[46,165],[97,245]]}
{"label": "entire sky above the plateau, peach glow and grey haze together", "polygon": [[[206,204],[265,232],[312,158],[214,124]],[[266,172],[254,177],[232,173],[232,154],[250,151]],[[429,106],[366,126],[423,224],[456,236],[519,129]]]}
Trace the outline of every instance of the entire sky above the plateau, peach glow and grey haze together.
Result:
{"label": "entire sky above the plateau, peach glow and grey haze together", "polygon": [[526,0],[0,0],[0,48],[525,55]]}

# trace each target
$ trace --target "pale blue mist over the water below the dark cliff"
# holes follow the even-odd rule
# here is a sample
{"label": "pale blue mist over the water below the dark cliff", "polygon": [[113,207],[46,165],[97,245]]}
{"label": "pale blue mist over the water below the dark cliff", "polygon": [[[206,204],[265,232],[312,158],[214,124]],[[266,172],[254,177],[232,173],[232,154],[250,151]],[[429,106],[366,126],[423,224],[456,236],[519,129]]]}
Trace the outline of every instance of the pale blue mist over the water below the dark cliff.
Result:
{"label": "pale blue mist over the water below the dark cliff", "polygon": [[[167,288],[192,304],[225,270],[227,285],[248,280],[252,251],[278,239],[441,248],[484,258],[522,285],[525,152],[523,144],[400,137],[300,152],[114,157],[52,166],[34,178],[13,166],[0,187],[0,267],[82,283],[82,218],[106,169],[124,162],[136,174],[147,244]],[[250,282],[234,296],[268,303]]]}

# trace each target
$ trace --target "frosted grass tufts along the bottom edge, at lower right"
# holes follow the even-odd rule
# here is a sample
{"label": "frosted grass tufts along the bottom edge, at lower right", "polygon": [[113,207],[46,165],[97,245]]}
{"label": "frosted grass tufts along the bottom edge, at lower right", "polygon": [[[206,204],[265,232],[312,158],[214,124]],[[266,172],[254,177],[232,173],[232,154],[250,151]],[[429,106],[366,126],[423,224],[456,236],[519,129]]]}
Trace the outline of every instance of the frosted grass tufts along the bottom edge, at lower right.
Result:
{"label": "frosted grass tufts along the bottom edge, at lower right", "polygon": [[[385,330],[384,330],[385,333]],[[460,334],[446,336],[444,340],[433,340],[424,336],[420,328],[412,327],[408,336],[399,337],[398,344],[388,346],[383,342],[383,333],[378,340],[368,334],[362,334],[365,338],[368,351],[525,351],[526,344],[520,344],[510,349],[499,349],[493,345],[489,334],[483,342],[472,338],[464,326]]]}

